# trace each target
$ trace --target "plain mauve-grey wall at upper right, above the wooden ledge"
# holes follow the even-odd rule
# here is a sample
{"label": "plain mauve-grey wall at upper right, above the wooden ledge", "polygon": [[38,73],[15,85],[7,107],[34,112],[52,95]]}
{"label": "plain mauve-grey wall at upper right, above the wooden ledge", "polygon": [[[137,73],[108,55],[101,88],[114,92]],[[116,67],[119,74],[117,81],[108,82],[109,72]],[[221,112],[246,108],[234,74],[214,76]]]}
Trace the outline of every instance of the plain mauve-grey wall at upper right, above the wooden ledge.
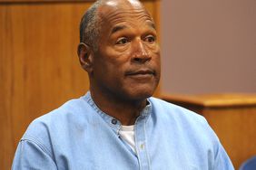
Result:
{"label": "plain mauve-grey wall at upper right, above the wooden ledge", "polygon": [[162,0],[162,91],[255,93],[255,9],[255,0]]}

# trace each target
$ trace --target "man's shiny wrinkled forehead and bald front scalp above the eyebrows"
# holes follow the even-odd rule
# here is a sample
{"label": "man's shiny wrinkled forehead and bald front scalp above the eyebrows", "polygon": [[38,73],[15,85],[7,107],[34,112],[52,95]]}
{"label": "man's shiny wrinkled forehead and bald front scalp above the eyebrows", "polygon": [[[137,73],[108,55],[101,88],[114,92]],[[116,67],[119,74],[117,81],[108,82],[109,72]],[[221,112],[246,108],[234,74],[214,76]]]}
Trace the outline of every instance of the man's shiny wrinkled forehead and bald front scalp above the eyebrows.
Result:
{"label": "man's shiny wrinkled forehead and bald front scalp above the eyebrows", "polygon": [[99,8],[98,14],[103,26],[111,26],[133,19],[153,23],[152,16],[139,1],[135,0],[107,1]]}

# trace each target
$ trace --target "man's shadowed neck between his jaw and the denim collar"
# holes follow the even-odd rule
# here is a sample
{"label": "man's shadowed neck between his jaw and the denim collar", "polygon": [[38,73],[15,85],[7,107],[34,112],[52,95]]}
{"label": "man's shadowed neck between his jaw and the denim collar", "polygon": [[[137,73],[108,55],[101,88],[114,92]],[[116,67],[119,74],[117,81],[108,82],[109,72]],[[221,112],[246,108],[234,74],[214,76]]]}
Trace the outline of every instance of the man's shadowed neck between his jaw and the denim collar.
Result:
{"label": "man's shadowed neck between his jaw and the denim collar", "polygon": [[92,99],[104,113],[118,119],[122,125],[133,125],[146,106],[146,99],[124,100],[111,94],[98,93],[90,89]]}

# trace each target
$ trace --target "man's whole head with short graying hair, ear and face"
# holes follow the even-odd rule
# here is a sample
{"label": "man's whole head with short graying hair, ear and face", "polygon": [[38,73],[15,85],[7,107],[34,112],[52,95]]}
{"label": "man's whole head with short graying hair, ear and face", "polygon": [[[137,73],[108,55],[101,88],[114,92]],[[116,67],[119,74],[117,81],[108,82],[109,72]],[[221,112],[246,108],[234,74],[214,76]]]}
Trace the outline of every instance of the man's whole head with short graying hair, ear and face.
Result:
{"label": "man's whole head with short graying hair, ear and face", "polygon": [[110,98],[142,100],[160,79],[153,19],[137,0],[103,0],[84,15],[78,48],[90,90]]}

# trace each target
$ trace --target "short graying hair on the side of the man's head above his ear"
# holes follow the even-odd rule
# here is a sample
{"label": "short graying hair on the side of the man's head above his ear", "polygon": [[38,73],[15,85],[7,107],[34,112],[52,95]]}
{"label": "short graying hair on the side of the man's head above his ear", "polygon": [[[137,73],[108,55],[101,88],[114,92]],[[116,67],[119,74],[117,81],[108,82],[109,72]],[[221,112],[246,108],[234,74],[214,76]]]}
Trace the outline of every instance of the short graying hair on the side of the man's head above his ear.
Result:
{"label": "short graying hair on the side of the man's head above his ear", "polygon": [[100,34],[98,8],[103,4],[102,0],[96,1],[83,15],[80,22],[80,42],[93,47],[94,51],[98,48]]}

